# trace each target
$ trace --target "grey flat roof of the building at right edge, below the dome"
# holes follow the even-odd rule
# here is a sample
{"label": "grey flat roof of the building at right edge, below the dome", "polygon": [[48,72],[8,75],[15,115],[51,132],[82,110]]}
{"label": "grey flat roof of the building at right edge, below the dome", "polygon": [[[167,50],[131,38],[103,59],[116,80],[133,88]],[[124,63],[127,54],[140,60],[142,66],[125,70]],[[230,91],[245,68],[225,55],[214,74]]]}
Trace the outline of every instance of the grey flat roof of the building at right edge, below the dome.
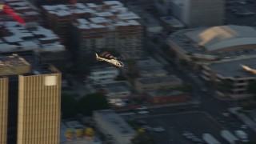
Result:
{"label": "grey flat roof of the building at right edge, below the dome", "polygon": [[216,74],[220,74],[223,77],[255,77],[256,74],[242,68],[242,65],[248,66],[253,70],[256,70],[256,57],[243,58],[226,62],[216,62],[207,65]]}

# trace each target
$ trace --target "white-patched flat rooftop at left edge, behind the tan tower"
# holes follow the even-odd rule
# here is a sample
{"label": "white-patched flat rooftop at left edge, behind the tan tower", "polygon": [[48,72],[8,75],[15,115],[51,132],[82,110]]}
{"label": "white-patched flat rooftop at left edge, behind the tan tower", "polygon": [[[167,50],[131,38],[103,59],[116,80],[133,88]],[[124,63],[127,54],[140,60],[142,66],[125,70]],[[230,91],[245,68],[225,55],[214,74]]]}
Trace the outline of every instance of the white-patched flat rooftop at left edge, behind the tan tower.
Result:
{"label": "white-patched flat rooftop at left edge, behind the tan tower", "polygon": [[60,38],[52,30],[42,26],[34,26],[31,29],[18,22],[0,22],[0,26],[6,30],[6,34],[0,37],[0,53],[16,50],[38,52],[65,50],[65,46],[59,41]]}

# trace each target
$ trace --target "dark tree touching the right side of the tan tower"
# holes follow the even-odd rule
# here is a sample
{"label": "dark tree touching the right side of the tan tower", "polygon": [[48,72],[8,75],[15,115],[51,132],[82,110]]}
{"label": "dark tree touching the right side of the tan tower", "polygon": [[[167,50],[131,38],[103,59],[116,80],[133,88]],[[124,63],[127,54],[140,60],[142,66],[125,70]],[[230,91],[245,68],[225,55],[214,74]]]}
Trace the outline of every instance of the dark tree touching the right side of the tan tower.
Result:
{"label": "dark tree touching the right side of the tan tower", "polygon": [[78,110],[76,109],[77,101],[74,99],[73,95],[62,94],[62,118],[72,118],[74,117]]}

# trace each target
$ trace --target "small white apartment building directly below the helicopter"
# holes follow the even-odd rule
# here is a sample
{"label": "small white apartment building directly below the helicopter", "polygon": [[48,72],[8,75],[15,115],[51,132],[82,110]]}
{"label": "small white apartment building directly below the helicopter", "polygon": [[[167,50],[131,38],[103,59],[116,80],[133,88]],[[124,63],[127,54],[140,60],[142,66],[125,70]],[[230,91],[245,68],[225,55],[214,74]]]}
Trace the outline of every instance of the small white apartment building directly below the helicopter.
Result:
{"label": "small white apartment building directly below the helicopter", "polygon": [[114,78],[118,76],[118,70],[114,67],[95,66],[91,68],[88,80],[93,84],[104,84],[114,82]]}

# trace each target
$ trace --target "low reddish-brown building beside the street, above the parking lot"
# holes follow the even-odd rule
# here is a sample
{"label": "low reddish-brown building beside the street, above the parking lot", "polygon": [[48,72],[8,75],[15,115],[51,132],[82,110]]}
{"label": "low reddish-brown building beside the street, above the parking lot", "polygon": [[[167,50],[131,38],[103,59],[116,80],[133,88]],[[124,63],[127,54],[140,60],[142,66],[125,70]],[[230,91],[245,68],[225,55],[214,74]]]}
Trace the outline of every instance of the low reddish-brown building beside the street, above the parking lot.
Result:
{"label": "low reddish-brown building beside the street, above the parking lot", "polygon": [[146,98],[152,104],[166,104],[173,102],[186,102],[190,96],[182,91],[150,91],[146,92]]}

